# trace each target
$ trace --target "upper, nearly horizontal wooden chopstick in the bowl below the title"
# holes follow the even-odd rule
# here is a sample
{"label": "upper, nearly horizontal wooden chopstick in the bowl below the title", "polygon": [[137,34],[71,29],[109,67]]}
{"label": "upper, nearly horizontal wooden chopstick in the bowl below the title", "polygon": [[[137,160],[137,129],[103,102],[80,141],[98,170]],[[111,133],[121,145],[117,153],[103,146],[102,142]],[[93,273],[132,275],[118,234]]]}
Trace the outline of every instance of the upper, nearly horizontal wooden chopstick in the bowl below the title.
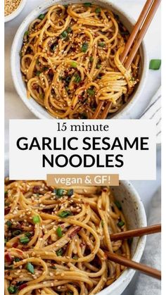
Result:
{"label": "upper, nearly horizontal wooden chopstick in the bowl below the title", "polygon": [[157,232],[161,232],[161,225],[151,225],[148,227],[136,228],[135,230],[117,232],[116,234],[110,234],[110,239],[111,241],[117,241],[118,239],[129,239],[132,237],[141,237],[144,234],[156,234]]}

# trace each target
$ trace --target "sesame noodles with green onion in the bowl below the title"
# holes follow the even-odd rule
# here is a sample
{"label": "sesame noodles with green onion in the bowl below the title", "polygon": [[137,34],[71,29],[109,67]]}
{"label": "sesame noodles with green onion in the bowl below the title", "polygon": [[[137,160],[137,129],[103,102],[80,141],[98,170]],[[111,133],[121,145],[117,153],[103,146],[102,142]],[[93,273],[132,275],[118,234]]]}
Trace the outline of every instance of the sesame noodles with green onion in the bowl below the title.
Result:
{"label": "sesame noodles with green onion in the bowl below the title", "polygon": [[5,187],[5,294],[93,295],[125,270],[105,251],[130,258],[122,207],[108,187],[55,189],[44,181]]}

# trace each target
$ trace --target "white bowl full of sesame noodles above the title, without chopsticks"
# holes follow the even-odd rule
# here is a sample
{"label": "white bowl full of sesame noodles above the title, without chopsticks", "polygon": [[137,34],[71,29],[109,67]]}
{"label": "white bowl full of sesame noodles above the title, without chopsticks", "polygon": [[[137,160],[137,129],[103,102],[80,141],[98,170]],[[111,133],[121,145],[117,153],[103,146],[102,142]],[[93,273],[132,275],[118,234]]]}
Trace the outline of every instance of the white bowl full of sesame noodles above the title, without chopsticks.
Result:
{"label": "white bowl full of sesame noodles above the title, without chopsticks", "polygon": [[[132,68],[125,70],[120,63],[135,21],[109,0],[91,1],[90,6],[84,2],[72,1],[79,3],[78,7],[68,11],[66,6],[72,6],[68,1],[46,1],[27,15],[15,34],[11,49],[13,82],[37,118],[92,118],[98,101],[108,99],[112,101],[108,118],[127,118],[146,84],[144,42]],[[54,11],[50,8],[54,5],[60,8]],[[65,15],[58,29],[52,22],[58,19],[56,13],[61,18]],[[83,19],[81,13],[85,13]],[[82,30],[85,22],[88,30]],[[96,25],[91,30],[93,22]]]}

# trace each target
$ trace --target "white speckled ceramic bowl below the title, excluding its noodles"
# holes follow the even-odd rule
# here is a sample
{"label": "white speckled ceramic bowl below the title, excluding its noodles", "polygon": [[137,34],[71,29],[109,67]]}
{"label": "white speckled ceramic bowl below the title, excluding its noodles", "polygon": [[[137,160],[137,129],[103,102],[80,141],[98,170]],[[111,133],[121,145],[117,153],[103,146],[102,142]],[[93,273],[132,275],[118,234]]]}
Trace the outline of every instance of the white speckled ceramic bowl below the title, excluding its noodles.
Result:
{"label": "white speckled ceramic bowl below the title, excluding its noodles", "polygon": [[[5,161],[5,177],[8,176],[8,159]],[[122,211],[127,221],[129,230],[137,227],[146,227],[146,213],[143,203],[132,184],[128,181],[120,181],[119,187],[112,187],[117,201],[122,204]],[[132,260],[139,262],[146,244],[146,236],[134,238],[132,242]],[[109,287],[103,289],[98,295],[120,295],[126,289],[134,276],[135,270],[127,269]]]}

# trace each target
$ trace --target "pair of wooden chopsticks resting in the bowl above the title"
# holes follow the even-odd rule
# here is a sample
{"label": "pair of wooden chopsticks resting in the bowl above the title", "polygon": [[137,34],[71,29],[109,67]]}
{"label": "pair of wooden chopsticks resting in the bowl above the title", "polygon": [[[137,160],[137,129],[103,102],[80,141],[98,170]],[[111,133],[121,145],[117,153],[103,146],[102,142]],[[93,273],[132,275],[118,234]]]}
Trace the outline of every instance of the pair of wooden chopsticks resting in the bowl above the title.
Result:
{"label": "pair of wooden chopsticks resting in the bowl above the title", "polygon": [[[153,20],[153,17],[158,9],[160,1],[161,0],[147,0],[145,6],[143,7],[143,10],[141,11],[141,14],[139,15],[139,19],[134,25],[132,34],[130,35],[125,46],[125,50],[120,56],[120,61],[124,63],[125,68],[127,70],[129,70],[132,61],[134,60],[134,56],[136,56],[136,52],[139,50],[139,46],[141,45],[142,39],[145,36],[146,31],[148,30],[148,27],[151,24],[151,21]],[[92,119],[106,119],[111,104],[112,101],[99,101]]]}

